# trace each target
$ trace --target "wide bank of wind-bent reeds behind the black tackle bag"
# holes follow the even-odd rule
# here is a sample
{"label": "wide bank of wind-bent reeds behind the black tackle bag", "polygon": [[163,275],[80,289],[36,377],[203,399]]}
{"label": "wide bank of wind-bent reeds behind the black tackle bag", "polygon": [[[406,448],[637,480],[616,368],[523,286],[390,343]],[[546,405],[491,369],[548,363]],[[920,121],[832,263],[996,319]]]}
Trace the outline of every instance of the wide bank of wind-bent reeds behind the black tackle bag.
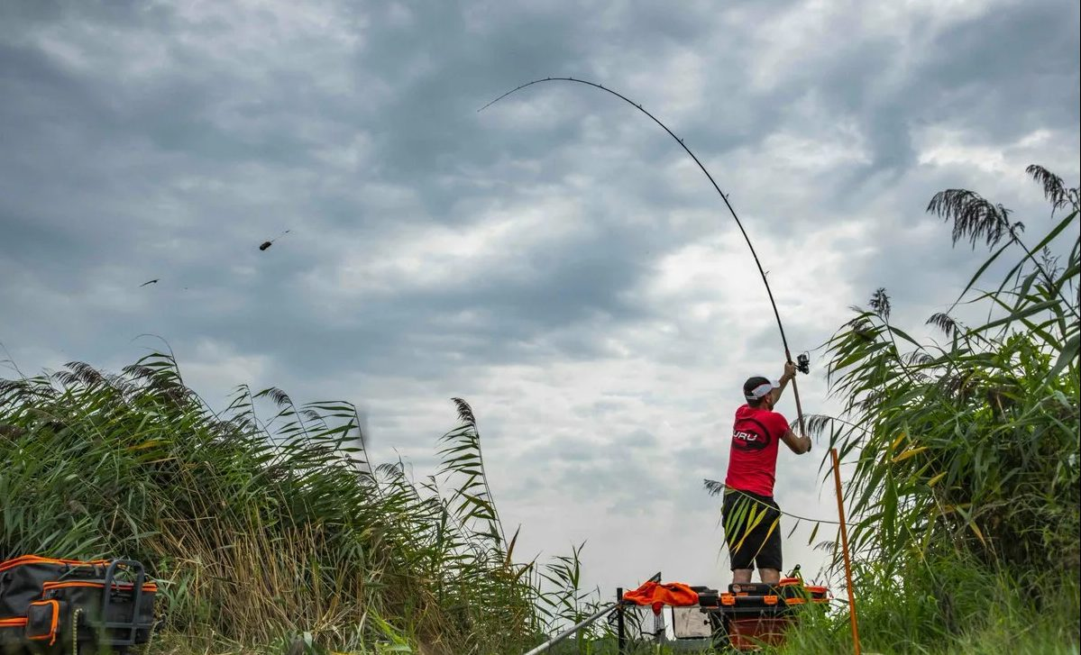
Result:
{"label": "wide bank of wind-bent reeds behind the black tackle bag", "polygon": [[536,570],[512,562],[456,404],[441,470],[416,482],[373,470],[352,405],[240,387],[216,413],[168,355],[4,380],[0,558],[142,560],[189,641],[515,652],[545,624]]}

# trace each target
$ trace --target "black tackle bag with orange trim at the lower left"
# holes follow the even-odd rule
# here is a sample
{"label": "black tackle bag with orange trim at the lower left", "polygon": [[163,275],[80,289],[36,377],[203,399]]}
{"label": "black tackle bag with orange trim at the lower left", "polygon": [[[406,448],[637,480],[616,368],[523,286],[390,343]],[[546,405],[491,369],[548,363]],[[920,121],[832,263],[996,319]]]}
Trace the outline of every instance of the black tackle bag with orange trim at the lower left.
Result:
{"label": "black tackle bag with orange trim at the lower left", "polygon": [[0,562],[0,654],[71,653],[72,644],[80,653],[123,652],[146,643],[157,591],[130,560]]}

